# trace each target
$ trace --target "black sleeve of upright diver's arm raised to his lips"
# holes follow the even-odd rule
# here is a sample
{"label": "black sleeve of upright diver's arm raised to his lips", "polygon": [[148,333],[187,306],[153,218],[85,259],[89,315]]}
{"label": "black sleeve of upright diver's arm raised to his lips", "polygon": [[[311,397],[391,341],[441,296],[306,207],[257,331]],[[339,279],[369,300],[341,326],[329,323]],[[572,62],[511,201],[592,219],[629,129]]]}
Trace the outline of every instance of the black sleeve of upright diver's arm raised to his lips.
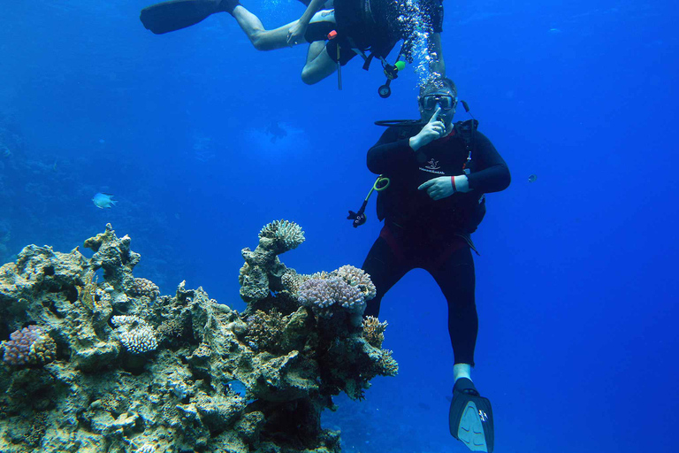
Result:
{"label": "black sleeve of upright diver's arm raised to his lips", "polygon": [[399,139],[398,128],[389,127],[375,146],[368,150],[368,169],[372,173],[395,173],[417,165],[416,153],[410,148],[408,138]]}

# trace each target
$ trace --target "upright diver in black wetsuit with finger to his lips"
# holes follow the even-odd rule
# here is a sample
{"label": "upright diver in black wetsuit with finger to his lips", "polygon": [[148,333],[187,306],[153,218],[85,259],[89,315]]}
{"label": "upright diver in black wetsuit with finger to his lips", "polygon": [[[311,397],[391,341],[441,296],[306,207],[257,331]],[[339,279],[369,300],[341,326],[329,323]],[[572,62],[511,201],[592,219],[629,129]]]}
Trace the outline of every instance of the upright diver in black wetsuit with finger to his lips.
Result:
{"label": "upright diver in black wetsuit with finger to his lips", "polygon": [[370,172],[388,187],[378,189],[385,226],[362,266],[377,288],[364,316],[377,317],[382,297],[410,270],[431,273],[446,296],[454,351],[451,434],[490,453],[491,404],[470,376],[478,330],[470,234],[484,217],[484,194],[507,188],[509,170],[475,119],[453,123],[453,81],[424,87],[419,104],[424,125],[389,127],[368,151]]}

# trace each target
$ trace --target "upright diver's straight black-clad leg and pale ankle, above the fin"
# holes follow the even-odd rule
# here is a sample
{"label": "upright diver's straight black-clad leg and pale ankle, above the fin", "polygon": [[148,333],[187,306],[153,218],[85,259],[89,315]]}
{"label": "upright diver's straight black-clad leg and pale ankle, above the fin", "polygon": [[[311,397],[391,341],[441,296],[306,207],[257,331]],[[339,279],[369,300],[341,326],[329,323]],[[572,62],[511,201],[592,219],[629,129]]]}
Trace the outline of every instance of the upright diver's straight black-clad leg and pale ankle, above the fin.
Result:
{"label": "upright diver's straight black-clad leg and pale ankle, above the fin", "polygon": [[[469,247],[455,250],[444,265],[430,271],[448,302],[448,332],[453,345],[458,377],[467,377],[474,366],[478,315],[475,300],[474,258]],[[466,365],[466,366],[462,366]],[[455,370],[454,370],[455,371]]]}

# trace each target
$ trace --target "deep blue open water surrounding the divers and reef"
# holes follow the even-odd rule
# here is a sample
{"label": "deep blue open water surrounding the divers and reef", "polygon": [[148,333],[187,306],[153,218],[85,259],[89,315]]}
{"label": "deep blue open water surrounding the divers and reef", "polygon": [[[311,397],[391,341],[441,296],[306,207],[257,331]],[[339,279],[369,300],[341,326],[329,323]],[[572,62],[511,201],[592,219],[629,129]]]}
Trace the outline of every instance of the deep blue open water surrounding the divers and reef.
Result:
{"label": "deep blue open water surrounding the divers and reef", "polygon": [[[243,0],[264,24],[298,2]],[[301,273],[360,266],[380,225],[345,220],[372,183],[376,119],[416,117],[416,76],[381,100],[358,61],[308,87],[303,47],[257,52],[228,15],[163,36],[145,0],[4,2],[0,19],[0,260],[71,250],[107,222],[136,275],[181,280],[235,308],[240,249],[273,219],[307,241]],[[679,283],[674,2],[446,0],[447,75],[513,175],[475,234],[473,377],[496,451],[675,451]],[[458,111],[465,119],[462,109]],[[287,135],[271,142],[276,123]],[[528,182],[530,174],[537,175]],[[98,192],[119,200],[99,210]],[[9,233],[9,238],[7,234]],[[431,277],[383,301],[397,378],[325,423],[347,451],[463,452],[447,433],[452,349]]]}

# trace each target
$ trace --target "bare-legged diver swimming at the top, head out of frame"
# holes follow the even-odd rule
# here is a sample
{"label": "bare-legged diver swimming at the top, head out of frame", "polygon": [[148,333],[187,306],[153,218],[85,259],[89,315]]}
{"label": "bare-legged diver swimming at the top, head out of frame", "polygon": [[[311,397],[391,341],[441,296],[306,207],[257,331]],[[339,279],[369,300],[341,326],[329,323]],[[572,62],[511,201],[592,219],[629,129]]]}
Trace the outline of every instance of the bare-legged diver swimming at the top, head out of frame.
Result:
{"label": "bare-legged diver swimming at the top, head out of frame", "polygon": [[[301,73],[302,81],[309,85],[339,71],[340,66],[356,55],[364,58],[365,69],[373,57],[378,58],[391,81],[403,67],[385,61],[396,43],[404,40],[397,59],[412,61],[413,42],[426,35],[428,69],[439,76],[445,75],[440,37],[442,0],[334,0],[333,9],[319,11],[326,2],[310,0],[300,19],[272,30],[265,29],[262,21],[239,0],[170,0],[144,8],[140,19],[144,27],[161,35],[194,25],[210,14],[228,12],[257,50],[275,50],[309,42],[307,61]],[[302,3],[307,4],[303,0]],[[388,96],[388,81],[386,91],[382,90],[384,86],[380,87],[380,96]],[[341,79],[339,82],[341,88]]]}

